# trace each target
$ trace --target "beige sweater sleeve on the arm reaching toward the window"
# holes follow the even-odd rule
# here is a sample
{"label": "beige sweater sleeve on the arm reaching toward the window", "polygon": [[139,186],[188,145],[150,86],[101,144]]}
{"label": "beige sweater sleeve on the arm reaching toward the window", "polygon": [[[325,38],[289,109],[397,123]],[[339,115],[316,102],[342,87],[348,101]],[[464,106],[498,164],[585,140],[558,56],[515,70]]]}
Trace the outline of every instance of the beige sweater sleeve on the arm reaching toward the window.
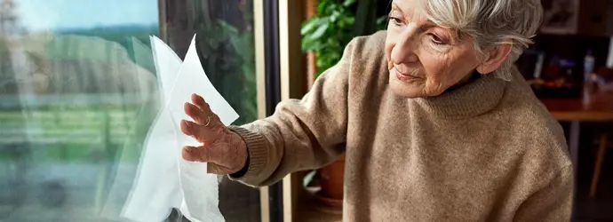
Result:
{"label": "beige sweater sleeve on the arm reaching toward the window", "polygon": [[229,127],[243,138],[249,153],[246,173],[231,179],[268,186],[291,172],[320,168],[345,152],[354,41],[302,99],[281,102],[265,119]]}

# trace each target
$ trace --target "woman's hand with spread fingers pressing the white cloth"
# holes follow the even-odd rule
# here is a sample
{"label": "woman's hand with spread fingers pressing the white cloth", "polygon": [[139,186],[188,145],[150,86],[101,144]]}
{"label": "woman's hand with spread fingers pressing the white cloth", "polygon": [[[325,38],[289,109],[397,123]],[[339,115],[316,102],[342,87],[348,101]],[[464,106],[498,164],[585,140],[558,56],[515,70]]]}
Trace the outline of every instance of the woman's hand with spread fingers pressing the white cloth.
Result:
{"label": "woman's hand with spread fingers pressing the white cloth", "polygon": [[192,103],[185,104],[185,113],[194,122],[182,120],[181,131],[203,146],[183,147],[183,159],[208,163],[209,173],[232,174],[243,169],[247,162],[247,146],[238,134],[227,130],[202,97],[193,94]]}

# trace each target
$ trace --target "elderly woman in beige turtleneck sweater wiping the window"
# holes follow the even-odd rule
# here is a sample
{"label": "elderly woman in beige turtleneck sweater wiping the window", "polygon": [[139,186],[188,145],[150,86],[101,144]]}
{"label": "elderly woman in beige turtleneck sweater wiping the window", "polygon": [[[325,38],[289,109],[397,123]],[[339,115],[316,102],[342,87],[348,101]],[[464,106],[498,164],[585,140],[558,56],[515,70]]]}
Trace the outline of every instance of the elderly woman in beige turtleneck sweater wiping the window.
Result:
{"label": "elderly woman in beige turtleneck sweater wiping the window", "polygon": [[513,68],[539,0],[394,0],[303,99],[225,127],[194,95],[183,121],[207,162],[251,186],[346,153],[346,221],[568,221],[573,173],[559,123]]}

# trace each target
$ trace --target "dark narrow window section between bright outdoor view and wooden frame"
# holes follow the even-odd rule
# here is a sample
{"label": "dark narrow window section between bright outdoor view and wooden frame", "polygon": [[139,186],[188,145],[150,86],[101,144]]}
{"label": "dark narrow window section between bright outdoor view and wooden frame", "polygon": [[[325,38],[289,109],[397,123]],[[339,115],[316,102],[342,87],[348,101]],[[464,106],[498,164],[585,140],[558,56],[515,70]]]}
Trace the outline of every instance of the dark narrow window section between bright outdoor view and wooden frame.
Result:
{"label": "dark narrow window section between bright outdoor view and wooden frame", "polygon": [[[235,124],[257,119],[253,2],[165,1],[164,33],[182,57],[196,34],[196,48],[211,83],[240,115]],[[259,190],[224,178],[219,208],[228,221],[259,221]]]}

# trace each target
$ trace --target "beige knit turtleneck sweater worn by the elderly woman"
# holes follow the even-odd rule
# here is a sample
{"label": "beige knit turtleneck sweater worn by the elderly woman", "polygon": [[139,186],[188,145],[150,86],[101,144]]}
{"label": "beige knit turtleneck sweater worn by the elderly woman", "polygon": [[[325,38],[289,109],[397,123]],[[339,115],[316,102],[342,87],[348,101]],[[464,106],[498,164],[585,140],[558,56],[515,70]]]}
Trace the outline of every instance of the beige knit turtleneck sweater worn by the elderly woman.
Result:
{"label": "beige knit turtleneck sweater worn by the elderly woman", "polygon": [[385,37],[354,39],[303,99],[231,127],[250,155],[237,179],[266,186],[346,152],[345,221],[569,221],[563,131],[521,75],[397,97]]}

